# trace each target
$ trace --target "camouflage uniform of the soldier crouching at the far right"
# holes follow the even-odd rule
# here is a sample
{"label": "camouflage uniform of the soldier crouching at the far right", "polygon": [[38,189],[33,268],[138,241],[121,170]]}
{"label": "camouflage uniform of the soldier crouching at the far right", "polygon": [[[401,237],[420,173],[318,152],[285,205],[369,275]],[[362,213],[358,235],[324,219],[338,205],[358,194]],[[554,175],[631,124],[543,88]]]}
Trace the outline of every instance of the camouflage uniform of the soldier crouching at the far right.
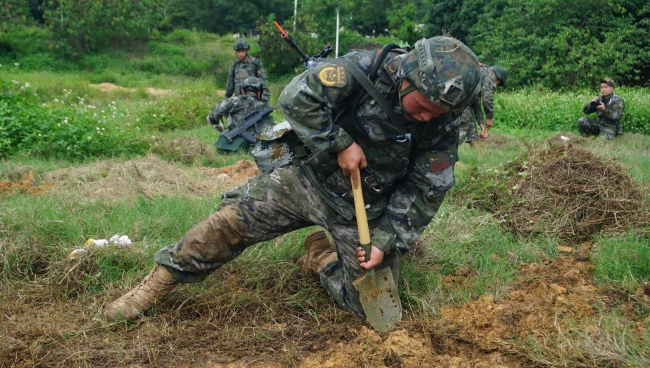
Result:
{"label": "camouflage uniform of the soldier crouching at the far right", "polygon": [[601,96],[599,101],[605,104],[605,110],[598,111],[591,101],[582,108],[585,114],[596,112],[598,120],[583,116],[578,119],[578,130],[584,137],[594,135],[614,139],[624,133],[621,119],[625,111],[625,103],[620,96],[613,93],[609,98]]}

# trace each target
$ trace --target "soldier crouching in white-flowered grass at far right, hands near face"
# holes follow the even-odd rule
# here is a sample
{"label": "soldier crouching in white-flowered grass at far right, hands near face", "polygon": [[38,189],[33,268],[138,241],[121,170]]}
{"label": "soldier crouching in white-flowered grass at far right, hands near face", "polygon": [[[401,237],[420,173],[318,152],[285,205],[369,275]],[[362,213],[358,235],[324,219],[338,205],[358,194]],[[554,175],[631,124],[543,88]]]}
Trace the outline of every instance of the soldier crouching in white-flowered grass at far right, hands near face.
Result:
{"label": "soldier crouching in white-flowered grass at far right, hands near face", "polygon": [[603,78],[600,81],[600,97],[594,97],[583,108],[585,114],[597,113],[598,120],[586,116],[578,119],[578,130],[583,137],[604,136],[607,139],[614,139],[617,135],[625,133],[623,123],[623,112],[625,102],[614,94],[616,83],[612,78]]}

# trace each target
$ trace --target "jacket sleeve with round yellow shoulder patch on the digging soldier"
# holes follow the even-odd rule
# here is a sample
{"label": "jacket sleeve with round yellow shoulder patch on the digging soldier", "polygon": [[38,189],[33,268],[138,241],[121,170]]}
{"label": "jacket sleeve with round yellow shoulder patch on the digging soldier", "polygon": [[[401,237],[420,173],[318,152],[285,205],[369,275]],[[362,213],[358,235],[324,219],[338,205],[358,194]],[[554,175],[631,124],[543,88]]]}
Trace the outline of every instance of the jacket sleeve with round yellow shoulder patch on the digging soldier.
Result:
{"label": "jacket sleeve with round yellow shoulder patch on the digging soldier", "polygon": [[338,152],[354,142],[334,124],[332,109],[350,96],[355,83],[343,67],[319,63],[296,76],[280,94],[284,117],[313,152]]}

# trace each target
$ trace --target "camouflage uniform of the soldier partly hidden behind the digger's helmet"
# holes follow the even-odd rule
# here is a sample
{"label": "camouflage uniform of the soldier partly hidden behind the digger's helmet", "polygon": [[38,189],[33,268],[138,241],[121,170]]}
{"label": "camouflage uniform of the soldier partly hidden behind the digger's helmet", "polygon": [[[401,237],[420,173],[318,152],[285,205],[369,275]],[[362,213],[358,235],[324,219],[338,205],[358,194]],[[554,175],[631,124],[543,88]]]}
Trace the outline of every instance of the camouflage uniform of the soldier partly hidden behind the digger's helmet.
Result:
{"label": "camouflage uniform of the soldier partly hidden behind the digger's helmet", "polygon": [[[497,88],[496,81],[494,80],[494,72],[490,67],[481,64],[481,97],[475,99],[472,104],[467,107],[460,118],[460,138],[458,143],[472,142],[479,139],[476,124],[483,126],[483,112],[485,112],[486,119],[494,118],[494,91]],[[481,109],[481,106],[483,107]]]}

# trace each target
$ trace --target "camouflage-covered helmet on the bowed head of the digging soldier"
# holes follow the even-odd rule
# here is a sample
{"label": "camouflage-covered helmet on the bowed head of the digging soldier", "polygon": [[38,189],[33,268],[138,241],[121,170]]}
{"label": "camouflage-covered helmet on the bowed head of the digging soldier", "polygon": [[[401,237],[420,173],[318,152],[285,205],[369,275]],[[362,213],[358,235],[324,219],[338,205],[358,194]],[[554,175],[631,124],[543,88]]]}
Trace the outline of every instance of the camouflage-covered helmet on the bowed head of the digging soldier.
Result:
{"label": "camouflage-covered helmet on the bowed head of the digging soldier", "polygon": [[422,38],[400,57],[396,78],[408,79],[444,109],[464,110],[481,90],[478,58],[453,37]]}

